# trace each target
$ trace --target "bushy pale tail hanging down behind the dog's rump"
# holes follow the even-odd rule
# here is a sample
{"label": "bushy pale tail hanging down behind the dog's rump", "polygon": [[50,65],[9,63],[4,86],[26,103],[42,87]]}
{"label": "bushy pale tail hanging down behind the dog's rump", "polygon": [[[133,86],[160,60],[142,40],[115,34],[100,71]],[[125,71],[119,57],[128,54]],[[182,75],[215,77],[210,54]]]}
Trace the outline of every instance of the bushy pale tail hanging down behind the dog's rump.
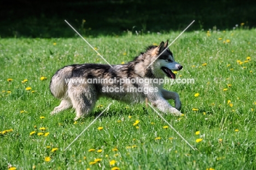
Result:
{"label": "bushy pale tail hanging down behind the dog's rump", "polygon": [[51,78],[50,91],[56,98],[64,98],[67,94],[67,79],[72,76],[72,66],[66,66],[57,71]]}

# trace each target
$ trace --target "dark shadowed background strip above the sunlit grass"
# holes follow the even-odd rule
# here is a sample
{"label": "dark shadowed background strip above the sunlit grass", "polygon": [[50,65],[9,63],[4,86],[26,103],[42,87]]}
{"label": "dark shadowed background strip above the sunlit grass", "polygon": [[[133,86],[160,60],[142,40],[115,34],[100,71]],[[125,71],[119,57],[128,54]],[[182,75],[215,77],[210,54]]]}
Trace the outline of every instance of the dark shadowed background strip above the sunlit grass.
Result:
{"label": "dark shadowed background strip above the sunlit grass", "polygon": [[[232,30],[256,26],[256,1],[0,1],[0,36],[74,37],[67,20],[83,36],[116,36],[191,30]],[[83,22],[85,20],[85,22]]]}

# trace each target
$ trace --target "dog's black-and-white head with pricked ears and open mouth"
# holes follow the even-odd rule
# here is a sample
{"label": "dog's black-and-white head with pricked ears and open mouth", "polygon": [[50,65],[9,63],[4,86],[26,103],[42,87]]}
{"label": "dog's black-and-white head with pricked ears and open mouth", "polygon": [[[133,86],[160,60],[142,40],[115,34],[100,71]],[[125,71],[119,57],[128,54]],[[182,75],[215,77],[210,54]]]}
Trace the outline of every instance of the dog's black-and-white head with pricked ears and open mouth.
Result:
{"label": "dog's black-and-white head with pricked ears and open mouth", "polygon": [[174,57],[170,49],[168,49],[168,40],[164,43],[161,42],[160,45],[152,47],[152,73],[156,77],[164,77],[175,79],[176,75],[172,71],[180,71],[182,65],[174,61]]}

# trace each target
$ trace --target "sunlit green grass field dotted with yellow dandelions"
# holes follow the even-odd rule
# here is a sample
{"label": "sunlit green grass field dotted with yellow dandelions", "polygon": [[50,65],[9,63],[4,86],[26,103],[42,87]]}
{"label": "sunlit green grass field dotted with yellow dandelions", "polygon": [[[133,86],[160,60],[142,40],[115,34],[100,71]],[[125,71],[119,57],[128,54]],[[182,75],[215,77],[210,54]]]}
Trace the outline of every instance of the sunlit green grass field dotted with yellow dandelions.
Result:
{"label": "sunlit green grass field dotted with yellow dandelions", "polygon": [[[121,64],[178,34],[85,38]],[[49,91],[57,69],[104,61],[81,38],[1,39],[0,169],[256,169],[255,36],[185,32],[170,46],[183,65],[177,78],[195,83],[165,84],[179,93],[184,116],[162,115],[196,150],[143,104],[101,98],[89,118],[74,121],[72,109],[50,116],[60,102]]]}

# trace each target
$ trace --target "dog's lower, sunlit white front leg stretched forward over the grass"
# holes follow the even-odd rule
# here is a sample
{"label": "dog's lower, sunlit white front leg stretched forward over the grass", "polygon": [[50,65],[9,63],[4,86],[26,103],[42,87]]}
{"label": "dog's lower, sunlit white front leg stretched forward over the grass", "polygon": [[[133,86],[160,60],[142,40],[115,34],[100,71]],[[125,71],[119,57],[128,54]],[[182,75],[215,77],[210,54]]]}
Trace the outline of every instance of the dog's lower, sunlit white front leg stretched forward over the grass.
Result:
{"label": "dog's lower, sunlit white front leg stretched forward over the grass", "polygon": [[152,103],[152,105],[156,108],[158,108],[159,110],[161,110],[161,112],[164,113],[172,113],[176,116],[180,116],[182,115],[181,112],[179,112],[179,110],[177,110],[176,108],[172,107],[163,97],[159,97],[157,99],[154,100],[150,100],[149,101]]}

